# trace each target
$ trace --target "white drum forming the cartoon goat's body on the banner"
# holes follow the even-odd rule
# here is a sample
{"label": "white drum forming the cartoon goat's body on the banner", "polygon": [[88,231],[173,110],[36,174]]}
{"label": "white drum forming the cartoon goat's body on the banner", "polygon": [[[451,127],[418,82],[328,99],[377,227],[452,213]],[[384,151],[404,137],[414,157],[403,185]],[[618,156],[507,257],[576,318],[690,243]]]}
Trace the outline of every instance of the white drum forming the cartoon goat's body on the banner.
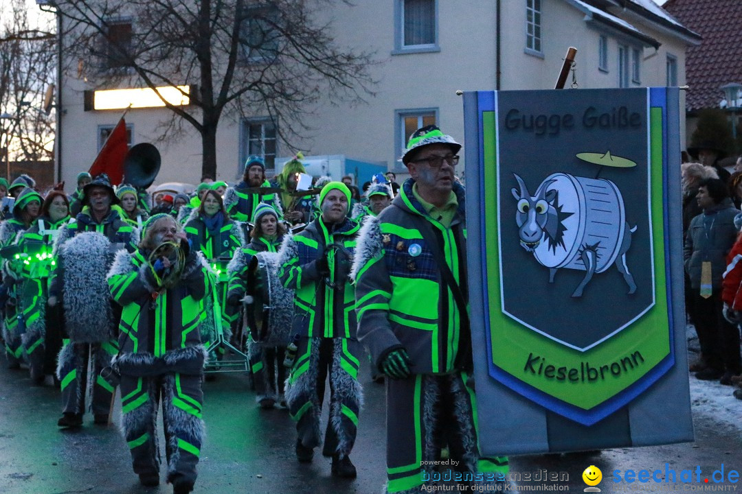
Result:
{"label": "white drum forming the cartoon goat's body on the banner", "polygon": [[550,241],[545,235],[533,252],[536,260],[545,267],[586,271],[581,253],[589,247],[597,252],[595,272],[607,270],[618,256],[626,228],[621,191],[605,178],[554,173],[544,179],[549,180],[554,182],[548,190],[559,193],[554,205],[562,207],[561,216],[572,214],[561,220],[561,241]]}

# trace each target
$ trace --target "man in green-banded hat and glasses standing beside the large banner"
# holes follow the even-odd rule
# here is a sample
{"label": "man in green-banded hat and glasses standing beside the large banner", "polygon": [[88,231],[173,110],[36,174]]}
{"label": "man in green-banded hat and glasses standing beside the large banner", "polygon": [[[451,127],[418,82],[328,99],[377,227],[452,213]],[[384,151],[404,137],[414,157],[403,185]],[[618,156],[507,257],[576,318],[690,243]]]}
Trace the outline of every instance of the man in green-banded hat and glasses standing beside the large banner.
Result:
{"label": "man in green-banded hat and glasses standing beside the large banner", "polygon": [[365,221],[356,249],[358,338],[390,377],[388,493],[423,492],[443,465],[442,478],[460,484],[508,472],[507,457],[483,458],[477,446],[460,149],[438,127],[413,133],[402,156],[411,178]]}

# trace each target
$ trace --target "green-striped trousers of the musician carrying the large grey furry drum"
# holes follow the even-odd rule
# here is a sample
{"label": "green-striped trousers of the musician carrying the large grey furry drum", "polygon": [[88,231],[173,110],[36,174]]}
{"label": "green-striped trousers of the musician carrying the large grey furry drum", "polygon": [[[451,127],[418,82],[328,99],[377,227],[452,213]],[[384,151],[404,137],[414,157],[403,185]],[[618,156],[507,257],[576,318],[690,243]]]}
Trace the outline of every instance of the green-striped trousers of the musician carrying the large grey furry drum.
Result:
{"label": "green-striped trousers of the musician carrying the large grey furry drum", "polygon": [[116,353],[116,340],[91,344],[65,340],[57,367],[57,378],[62,389],[62,412],[85,413],[87,386],[91,390],[93,414],[110,413],[115,388],[102,378],[100,371],[111,363]]}

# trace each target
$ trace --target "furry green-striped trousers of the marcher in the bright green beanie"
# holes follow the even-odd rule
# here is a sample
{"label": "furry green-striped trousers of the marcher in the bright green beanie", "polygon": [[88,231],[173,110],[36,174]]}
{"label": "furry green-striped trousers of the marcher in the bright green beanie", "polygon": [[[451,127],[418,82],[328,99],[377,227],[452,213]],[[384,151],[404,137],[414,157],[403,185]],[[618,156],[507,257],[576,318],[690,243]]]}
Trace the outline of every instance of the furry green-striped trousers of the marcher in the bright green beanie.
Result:
{"label": "furry green-striped trousers of the marcher in the bright green beanie", "polygon": [[355,443],[358,411],[363,402],[358,383],[361,345],[350,338],[301,338],[291,374],[286,380],[286,402],[305,447],[321,444],[320,415],[325,381],[329,376],[329,421],[322,454],[347,456]]}

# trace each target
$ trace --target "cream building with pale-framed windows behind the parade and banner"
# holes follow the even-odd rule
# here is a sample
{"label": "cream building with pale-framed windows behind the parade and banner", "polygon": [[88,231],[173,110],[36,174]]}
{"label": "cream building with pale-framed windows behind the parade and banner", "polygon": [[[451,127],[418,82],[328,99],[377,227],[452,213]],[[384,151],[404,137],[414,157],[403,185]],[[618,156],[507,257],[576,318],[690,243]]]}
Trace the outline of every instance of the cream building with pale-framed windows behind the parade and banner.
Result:
{"label": "cream building with pale-framed windows behind the parade and banner", "polygon": [[[462,99],[456,90],[553,88],[570,46],[577,48],[577,64],[568,88],[573,81],[579,88],[682,86],[686,47],[700,43],[700,36],[651,0],[354,4],[336,7],[326,16],[332,19],[338,44],[370,50],[381,61],[372,70],[378,80],[376,96],[355,107],[321,104],[310,115],[307,138],[292,143],[295,147],[276,141],[275,124],[264,115],[223,119],[217,132],[218,179],[234,181],[248,154],[263,154],[272,163],[292,156],[295,149],[306,156],[381,161],[402,172],[397,158],[407,136],[422,124],[436,123],[463,140]],[[89,109],[92,91],[102,89],[95,84],[89,78],[65,78],[60,84],[62,133],[57,150],[62,179],[68,184],[88,169],[122,113]],[[159,108],[130,110],[126,121],[131,144],[152,141],[160,133],[158,124],[168,118],[168,110]],[[195,183],[200,178],[200,137],[188,125],[184,128],[188,133],[159,146],[158,183]]]}

